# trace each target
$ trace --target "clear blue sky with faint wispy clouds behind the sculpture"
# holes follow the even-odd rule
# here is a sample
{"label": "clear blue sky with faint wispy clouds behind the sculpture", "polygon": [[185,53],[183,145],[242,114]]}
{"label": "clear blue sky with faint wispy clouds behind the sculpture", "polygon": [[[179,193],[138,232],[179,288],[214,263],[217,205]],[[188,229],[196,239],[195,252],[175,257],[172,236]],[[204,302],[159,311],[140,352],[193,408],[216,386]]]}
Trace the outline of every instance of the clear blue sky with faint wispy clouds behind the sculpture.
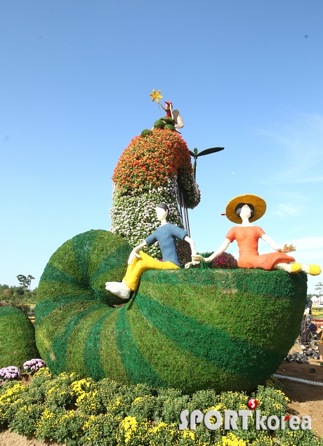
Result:
{"label": "clear blue sky with faint wispy clouds behind the sculpture", "polygon": [[231,198],[257,194],[259,226],[322,266],[322,18],[321,0],[1,2],[0,283],[35,287],[67,239],[110,228],[117,160],[159,117],[152,88],[190,149],[225,147],[197,163],[197,249],[222,243]]}

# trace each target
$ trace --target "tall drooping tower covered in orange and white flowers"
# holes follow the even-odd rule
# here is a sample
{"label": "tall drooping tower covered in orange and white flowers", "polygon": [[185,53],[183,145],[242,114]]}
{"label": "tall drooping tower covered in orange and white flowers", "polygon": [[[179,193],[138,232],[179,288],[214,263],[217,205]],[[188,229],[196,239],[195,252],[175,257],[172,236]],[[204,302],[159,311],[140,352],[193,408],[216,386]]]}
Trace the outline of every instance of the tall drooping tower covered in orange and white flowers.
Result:
{"label": "tall drooping tower covered in orange and white flowers", "polygon": [[[111,231],[131,246],[138,245],[159,226],[154,207],[161,201],[169,205],[169,222],[183,227],[178,186],[187,208],[195,208],[200,201],[186,142],[169,128],[171,125],[162,122],[159,127],[159,121],[153,130],[143,130],[142,135],[133,138],[112,177]],[[162,259],[158,244],[145,251]]]}

